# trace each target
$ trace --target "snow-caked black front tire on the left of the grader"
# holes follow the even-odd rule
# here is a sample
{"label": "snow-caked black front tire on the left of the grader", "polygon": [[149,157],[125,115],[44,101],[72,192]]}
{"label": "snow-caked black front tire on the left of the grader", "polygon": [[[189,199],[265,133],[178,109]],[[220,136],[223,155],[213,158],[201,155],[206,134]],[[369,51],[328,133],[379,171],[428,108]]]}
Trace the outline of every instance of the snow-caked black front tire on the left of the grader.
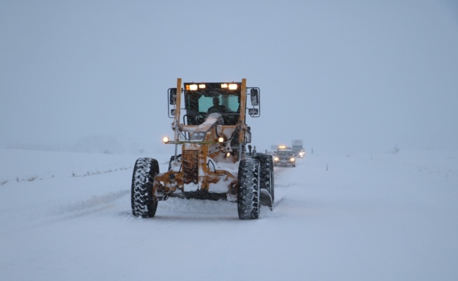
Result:
{"label": "snow-caked black front tire on the left of the grader", "polygon": [[152,183],[159,174],[156,159],[138,158],[133,167],[131,204],[133,216],[152,218],[156,214],[157,198],[152,194]]}

